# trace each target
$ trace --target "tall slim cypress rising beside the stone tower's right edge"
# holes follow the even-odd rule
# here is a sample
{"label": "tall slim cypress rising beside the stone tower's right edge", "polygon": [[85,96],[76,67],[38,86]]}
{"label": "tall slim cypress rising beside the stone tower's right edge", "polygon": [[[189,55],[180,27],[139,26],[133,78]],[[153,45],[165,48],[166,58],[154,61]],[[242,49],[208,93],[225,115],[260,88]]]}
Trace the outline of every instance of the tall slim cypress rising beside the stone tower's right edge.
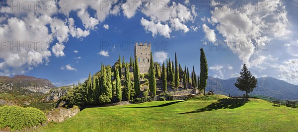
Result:
{"label": "tall slim cypress rising beside the stone tower's right edge", "polygon": [[150,53],[150,68],[149,68],[149,90],[152,95],[156,95],[156,80],[155,80],[155,70],[152,58],[152,52]]}

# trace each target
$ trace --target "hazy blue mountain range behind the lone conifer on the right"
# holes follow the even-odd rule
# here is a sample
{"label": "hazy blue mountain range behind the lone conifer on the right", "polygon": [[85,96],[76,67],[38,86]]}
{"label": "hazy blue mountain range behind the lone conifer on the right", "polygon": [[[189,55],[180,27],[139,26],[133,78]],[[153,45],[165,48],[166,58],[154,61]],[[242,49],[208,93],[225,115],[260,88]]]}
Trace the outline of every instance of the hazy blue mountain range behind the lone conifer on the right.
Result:
{"label": "hazy blue mountain range behind the lone conifer on the right", "polygon": [[[249,94],[270,96],[277,99],[298,99],[298,85],[288,83],[273,77],[257,78],[258,84]],[[245,91],[235,87],[236,78],[220,79],[208,76],[206,91],[213,90],[215,94],[230,94],[231,96],[243,96]]]}

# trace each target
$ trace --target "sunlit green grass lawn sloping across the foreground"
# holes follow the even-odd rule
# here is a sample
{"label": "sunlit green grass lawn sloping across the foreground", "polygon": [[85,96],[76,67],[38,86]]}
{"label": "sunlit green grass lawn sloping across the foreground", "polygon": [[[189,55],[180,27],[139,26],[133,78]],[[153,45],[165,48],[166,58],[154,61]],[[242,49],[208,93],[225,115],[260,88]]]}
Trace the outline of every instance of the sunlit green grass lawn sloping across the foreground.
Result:
{"label": "sunlit green grass lawn sloping across the foreground", "polygon": [[37,131],[298,131],[297,108],[275,107],[260,99],[224,97],[210,95],[187,101],[87,108],[63,123],[49,123]]}

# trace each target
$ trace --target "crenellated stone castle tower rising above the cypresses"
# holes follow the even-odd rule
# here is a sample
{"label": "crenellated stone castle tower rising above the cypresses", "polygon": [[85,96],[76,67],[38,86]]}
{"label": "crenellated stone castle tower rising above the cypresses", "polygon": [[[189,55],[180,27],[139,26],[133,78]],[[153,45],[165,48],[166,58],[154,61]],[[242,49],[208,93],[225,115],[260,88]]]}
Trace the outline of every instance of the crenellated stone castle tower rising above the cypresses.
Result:
{"label": "crenellated stone castle tower rising above the cypresses", "polygon": [[149,73],[151,44],[136,42],[135,56],[138,58],[140,73]]}

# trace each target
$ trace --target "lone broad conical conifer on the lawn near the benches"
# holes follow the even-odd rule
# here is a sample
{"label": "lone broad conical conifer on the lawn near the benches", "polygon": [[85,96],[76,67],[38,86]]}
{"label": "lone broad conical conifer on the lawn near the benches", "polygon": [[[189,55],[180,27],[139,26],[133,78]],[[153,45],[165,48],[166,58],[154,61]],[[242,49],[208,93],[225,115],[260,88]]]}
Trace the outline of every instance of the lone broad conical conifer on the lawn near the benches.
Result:
{"label": "lone broad conical conifer on the lawn near the benches", "polygon": [[243,64],[240,71],[240,76],[237,77],[237,82],[234,84],[239,90],[246,91],[247,94],[252,92],[253,89],[257,86],[258,80],[248,71],[245,64]]}

